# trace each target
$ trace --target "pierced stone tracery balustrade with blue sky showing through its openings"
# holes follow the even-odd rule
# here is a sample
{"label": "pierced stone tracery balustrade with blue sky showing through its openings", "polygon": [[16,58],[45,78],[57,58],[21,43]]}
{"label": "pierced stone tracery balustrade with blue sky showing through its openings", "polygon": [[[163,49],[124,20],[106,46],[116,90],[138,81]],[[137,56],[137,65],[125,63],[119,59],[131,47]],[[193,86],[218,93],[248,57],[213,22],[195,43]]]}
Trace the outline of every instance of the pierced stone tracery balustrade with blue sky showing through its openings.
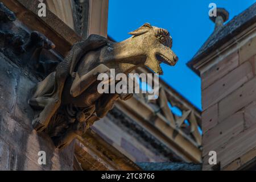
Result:
{"label": "pierced stone tracery balustrade with blue sky showing through its openings", "polygon": [[[137,73],[152,73],[145,68],[138,68]],[[174,89],[159,79],[159,97],[157,100],[147,100],[147,94],[136,94],[138,100],[149,105],[155,113],[165,118],[167,125],[191,138],[201,147],[201,111],[193,106]],[[177,113],[177,111],[179,113]]]}

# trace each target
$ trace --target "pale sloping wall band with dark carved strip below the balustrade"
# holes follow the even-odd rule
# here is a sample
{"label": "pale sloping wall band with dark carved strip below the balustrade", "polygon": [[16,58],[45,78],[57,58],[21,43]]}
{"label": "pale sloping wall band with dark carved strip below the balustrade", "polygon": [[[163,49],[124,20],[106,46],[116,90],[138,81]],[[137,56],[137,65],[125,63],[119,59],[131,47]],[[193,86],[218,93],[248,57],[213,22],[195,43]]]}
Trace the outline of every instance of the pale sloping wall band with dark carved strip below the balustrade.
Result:
{"label": "pale sloping wall band with dark carved strip below the balustrade", "polygon": [[182,161],[117,107],[91,128],[135,163]]}

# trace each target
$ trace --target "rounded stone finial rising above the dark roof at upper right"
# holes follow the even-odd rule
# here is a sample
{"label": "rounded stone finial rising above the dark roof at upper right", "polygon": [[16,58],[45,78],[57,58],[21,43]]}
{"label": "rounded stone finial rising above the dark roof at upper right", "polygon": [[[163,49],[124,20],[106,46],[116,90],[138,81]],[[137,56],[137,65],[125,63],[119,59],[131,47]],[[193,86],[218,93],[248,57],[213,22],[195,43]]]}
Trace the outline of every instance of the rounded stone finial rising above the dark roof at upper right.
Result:
{"label": "rounded stone finial rising above the dark roof at upper right", "polygon": [[210,17],[210,20],[215,23],[214,31],[224,26],[224,22],[229,19],[229,13],[224,8],[217,8],[217,16]]}

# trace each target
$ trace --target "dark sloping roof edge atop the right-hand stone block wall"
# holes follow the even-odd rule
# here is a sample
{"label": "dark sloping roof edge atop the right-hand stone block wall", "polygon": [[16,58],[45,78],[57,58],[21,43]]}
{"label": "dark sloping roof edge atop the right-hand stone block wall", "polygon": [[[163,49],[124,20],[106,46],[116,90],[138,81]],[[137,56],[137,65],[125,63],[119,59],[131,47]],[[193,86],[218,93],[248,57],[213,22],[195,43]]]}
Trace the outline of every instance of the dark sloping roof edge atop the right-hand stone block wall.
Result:
{"label": "dark sloping roof edge atop the right-hand stone block wall", "polygon": [[[241,14],[234,16],[232,20],[225,24],[225,26],[214,31],[212,35],[209,36],[207,41],[203,46],[197,51],[196,55],[187,63],[187,66],[195,71],[192,67],[196,61],[200,60],[209,52],[212,52],[217,47],[221,46],[228,40],[232,39],[234,36],[239,34],[245,28],[251,26],[251,24],[256,22],[256,3],[250,6],[248,9],[243,11]],[[199,72],[195,71],[198,75]]]}

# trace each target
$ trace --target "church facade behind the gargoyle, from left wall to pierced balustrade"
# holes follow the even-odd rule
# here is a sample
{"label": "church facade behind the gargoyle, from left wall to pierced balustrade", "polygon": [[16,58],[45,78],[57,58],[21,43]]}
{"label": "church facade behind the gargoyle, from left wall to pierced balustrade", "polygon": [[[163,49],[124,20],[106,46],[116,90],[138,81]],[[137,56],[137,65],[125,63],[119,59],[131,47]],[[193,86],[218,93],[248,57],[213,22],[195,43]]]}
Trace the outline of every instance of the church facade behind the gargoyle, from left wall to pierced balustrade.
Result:
{"label": "church facade behind the gargoyle, from left wall to pierced balustrade", "polygon": [[[46,16],[38,15],[40,3],[46,5]],[[63,150],[33,129],[31,89],[75,43],[91,34],[108,38],[108,1],[1,0],[0,11],[1,169],[201,169],[201,111],[163,80],[157,100],[147,100],[146,94],[118,100]],[[146,68],[134,72],[151,73]],[[45,161],[40,162],[41,155]]]}

